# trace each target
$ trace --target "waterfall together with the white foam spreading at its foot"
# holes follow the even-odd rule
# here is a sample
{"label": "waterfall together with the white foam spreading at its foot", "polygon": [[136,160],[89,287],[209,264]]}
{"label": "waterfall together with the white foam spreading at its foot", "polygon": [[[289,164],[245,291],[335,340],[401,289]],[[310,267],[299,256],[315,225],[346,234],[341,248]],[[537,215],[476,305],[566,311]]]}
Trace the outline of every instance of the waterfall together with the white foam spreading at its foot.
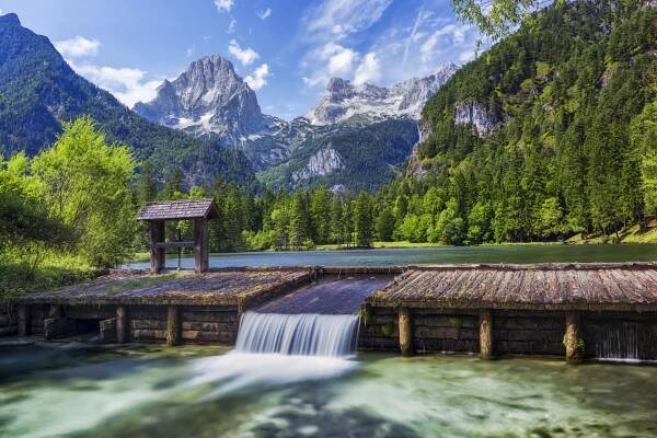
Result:
{"label": "waterfall together with the white foam spreading at its foot", "polygon": [[196,361],[189,385],[215,387],[203,400],[249,388],[336,378],[358,367],[359,316],[350,314],[242,315],[235,349]]}

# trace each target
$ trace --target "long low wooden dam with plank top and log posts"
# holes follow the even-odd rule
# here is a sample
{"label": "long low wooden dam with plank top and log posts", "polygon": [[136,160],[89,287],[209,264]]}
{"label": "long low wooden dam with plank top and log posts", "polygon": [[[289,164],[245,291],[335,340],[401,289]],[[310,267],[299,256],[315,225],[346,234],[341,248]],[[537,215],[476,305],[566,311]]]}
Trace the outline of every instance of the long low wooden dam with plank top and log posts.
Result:
{"label": "long low wooden dam with plank top and log posts", "polygon": [[657,264],[114,272],[11,300],[0,335],[233,345],[240,318],[359,313],[358,346],[402,354],[657,360]]}

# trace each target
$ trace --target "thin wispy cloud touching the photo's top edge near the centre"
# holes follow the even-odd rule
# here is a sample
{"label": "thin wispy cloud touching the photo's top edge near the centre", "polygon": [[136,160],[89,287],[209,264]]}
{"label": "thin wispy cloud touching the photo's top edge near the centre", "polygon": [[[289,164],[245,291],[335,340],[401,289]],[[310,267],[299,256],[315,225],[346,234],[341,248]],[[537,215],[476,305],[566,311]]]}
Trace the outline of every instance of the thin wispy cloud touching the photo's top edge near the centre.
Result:
{"label": "thin wispy cloud touching the photo's top edge near the centre", "polygon": [[306,28],[319,36],[344,38],[374,24],[392,0],[324,0],[304,14]]}

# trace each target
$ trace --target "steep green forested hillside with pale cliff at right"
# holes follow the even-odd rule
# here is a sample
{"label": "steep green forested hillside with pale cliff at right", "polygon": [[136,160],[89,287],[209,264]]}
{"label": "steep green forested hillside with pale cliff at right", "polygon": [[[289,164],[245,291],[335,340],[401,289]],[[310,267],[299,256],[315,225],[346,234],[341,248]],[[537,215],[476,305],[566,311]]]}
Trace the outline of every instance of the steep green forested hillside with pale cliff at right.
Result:
{"label": "steep green forested hillside with pale cliff at right", "polygon": [[654,212],[641,169],[655,149],[643,126],[657,116],[656,20],[647,2],[555,3],[461,68],[382,193],[396,234],[556,240],[643,222]]}

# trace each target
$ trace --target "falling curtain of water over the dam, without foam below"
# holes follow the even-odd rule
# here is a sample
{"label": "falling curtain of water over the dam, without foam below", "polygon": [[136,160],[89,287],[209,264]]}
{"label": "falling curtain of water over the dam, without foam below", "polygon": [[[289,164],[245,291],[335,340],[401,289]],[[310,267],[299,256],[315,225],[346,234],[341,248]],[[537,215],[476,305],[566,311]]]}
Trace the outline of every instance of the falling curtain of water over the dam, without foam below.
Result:
{"label": "falling curtain of water over the dam, without foam below", "polygon": [[359,316],[246,312],[237,351],[302,356],[348,356],[356,351]]}

